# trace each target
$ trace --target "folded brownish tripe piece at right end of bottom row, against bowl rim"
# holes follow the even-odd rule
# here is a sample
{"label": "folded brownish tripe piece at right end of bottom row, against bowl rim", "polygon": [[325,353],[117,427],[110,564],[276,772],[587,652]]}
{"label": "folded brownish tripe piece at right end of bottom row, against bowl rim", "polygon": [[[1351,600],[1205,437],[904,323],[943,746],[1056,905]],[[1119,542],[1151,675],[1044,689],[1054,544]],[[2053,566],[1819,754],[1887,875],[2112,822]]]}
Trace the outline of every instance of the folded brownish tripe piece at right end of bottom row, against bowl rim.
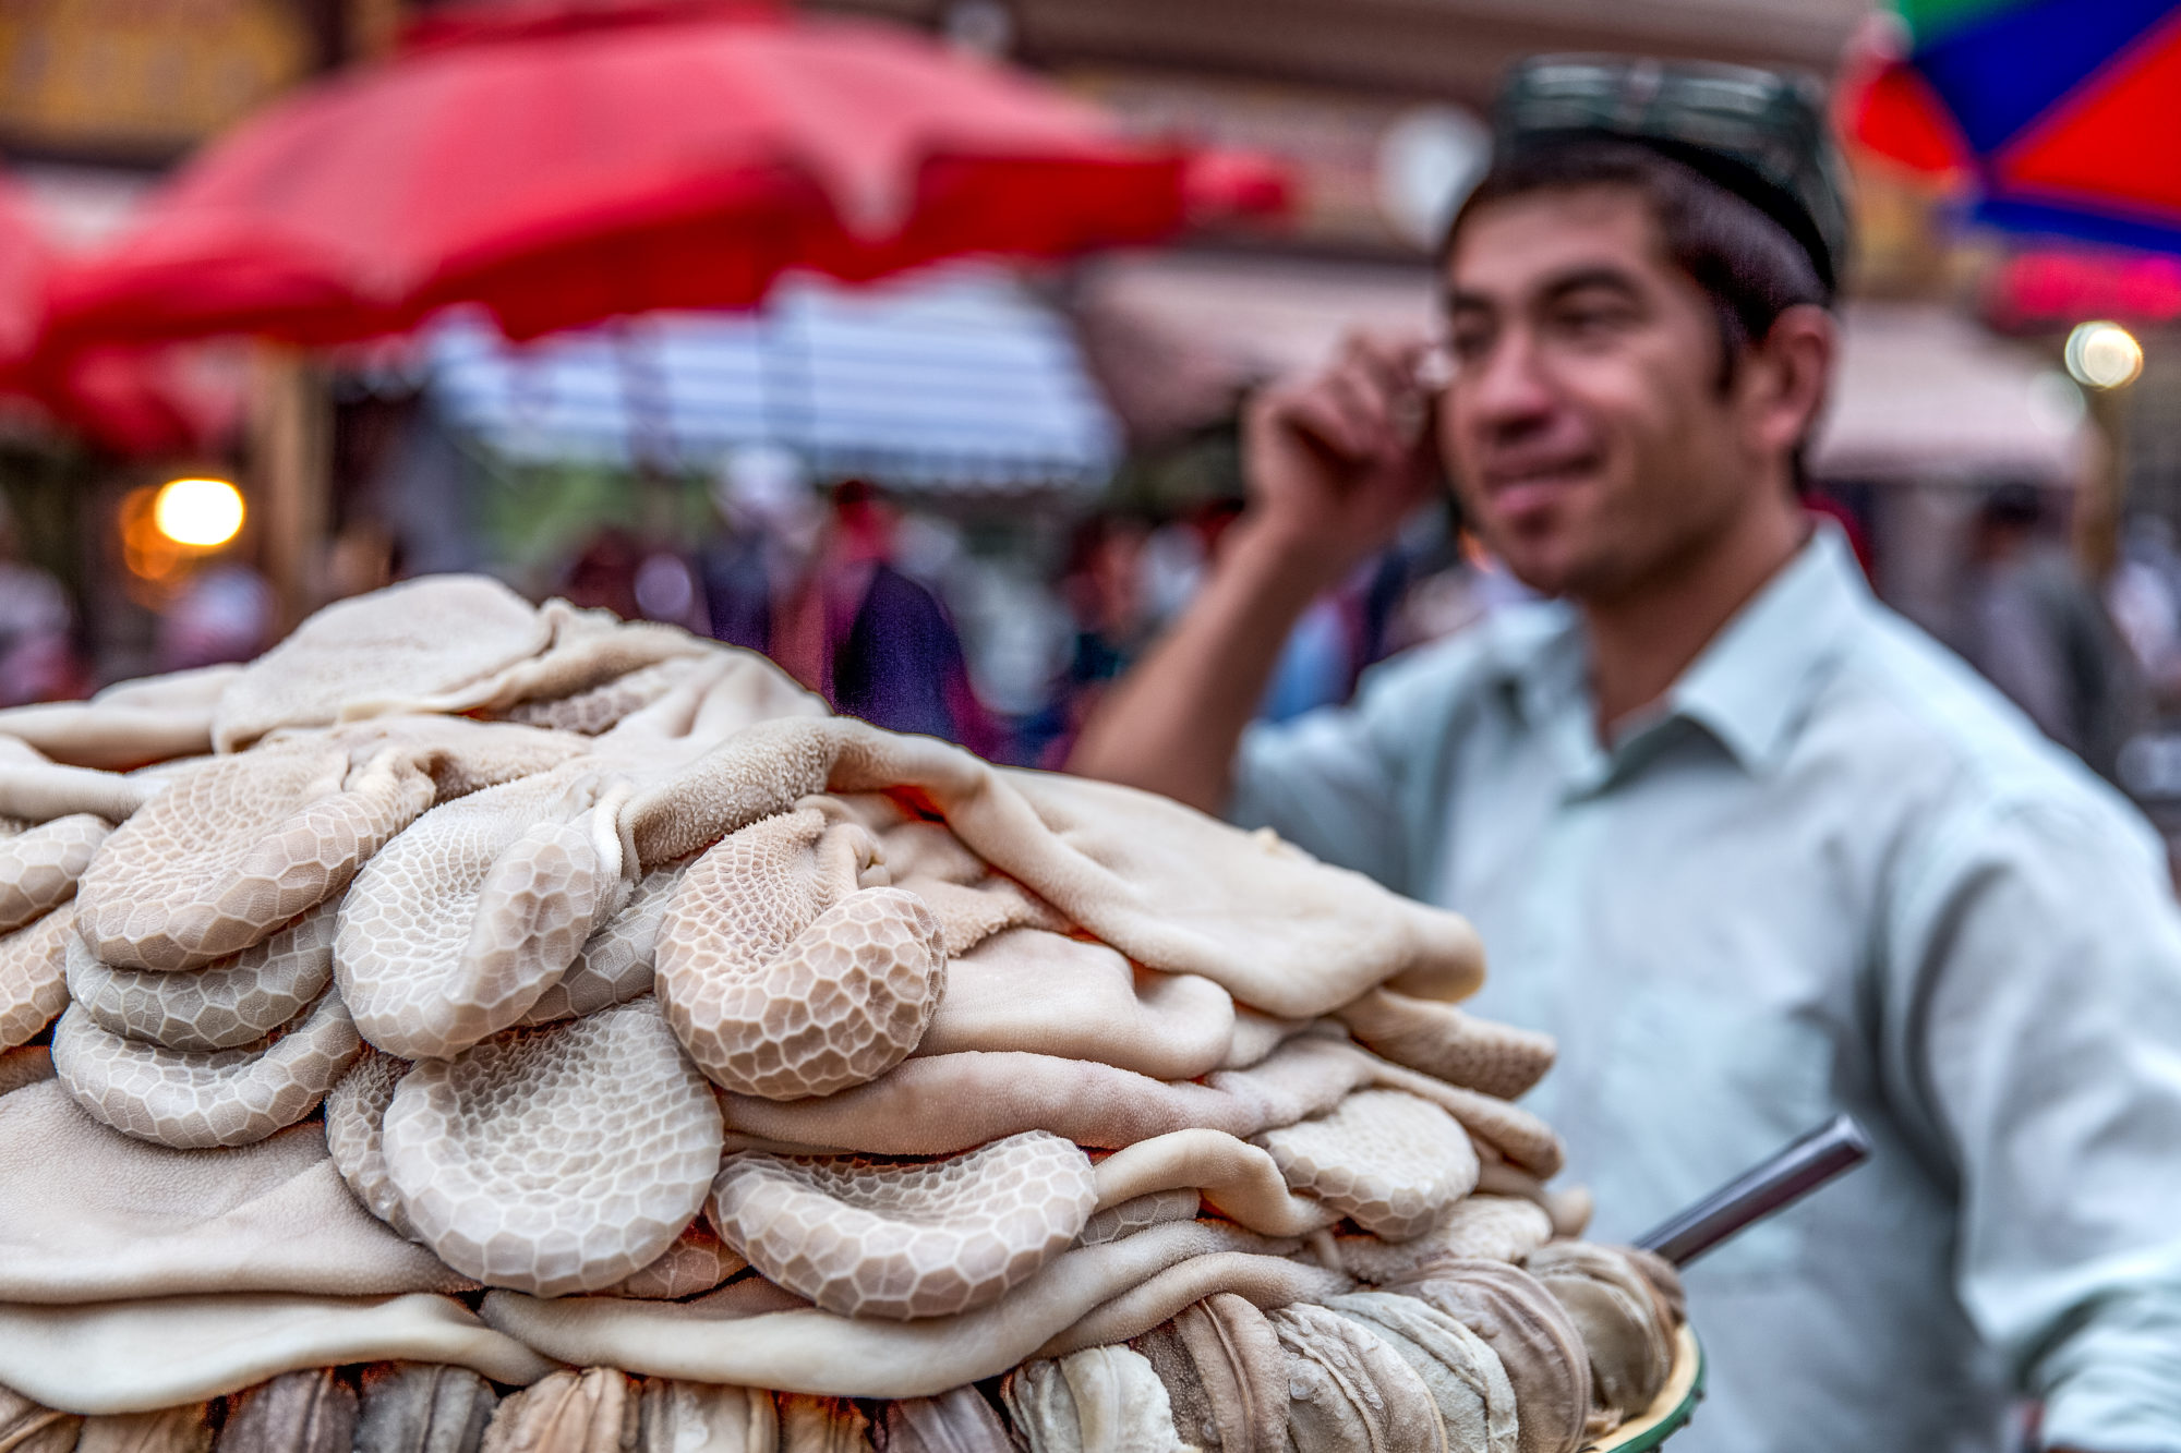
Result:
{"label": "folded brownish tripe piece at right end of bottom row, against bowl rim", "polygon": [[1651,1278],[1612,1246],[1553,1241],[1525,1261],[1583,1337],[1590,1355],[1592,1431],[1614,1429],[1651,1405],[1673,1374],[1673,1313]]}

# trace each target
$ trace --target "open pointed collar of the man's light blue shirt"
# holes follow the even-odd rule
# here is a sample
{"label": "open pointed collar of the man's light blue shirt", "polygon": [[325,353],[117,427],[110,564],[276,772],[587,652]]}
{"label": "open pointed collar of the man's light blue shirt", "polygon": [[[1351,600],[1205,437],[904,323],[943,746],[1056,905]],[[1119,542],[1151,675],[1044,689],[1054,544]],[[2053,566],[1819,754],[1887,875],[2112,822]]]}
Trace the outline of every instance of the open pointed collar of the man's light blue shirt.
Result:
{"label": "open pointed collar of the man's light blue shirt", "polygon": [[[1679,718],[1710,733],[1743,768],[1773,766],[1867,607],[1869,587],[1847,539],[1821,519],[1810,543],[1697,655],[1653,726]],[[1586,641],[1573,609],[1546,602],[1505,611],[1492,661],[1531,726],[1546,729],[1557,718],[1590,737],[1581,755],[1596,753]],[[1638,729],[1629,740],[1644,735]],[[1603,759],[1594,766],[1610,770]]]}

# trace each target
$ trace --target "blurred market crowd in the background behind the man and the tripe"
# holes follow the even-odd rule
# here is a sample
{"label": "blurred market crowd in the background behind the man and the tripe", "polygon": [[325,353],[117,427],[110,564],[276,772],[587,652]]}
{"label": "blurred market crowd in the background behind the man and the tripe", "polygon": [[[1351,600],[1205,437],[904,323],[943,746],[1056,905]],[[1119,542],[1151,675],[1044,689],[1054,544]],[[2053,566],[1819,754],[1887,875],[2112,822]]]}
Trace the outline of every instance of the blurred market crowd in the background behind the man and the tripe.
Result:
{"label": "blurred market crowd in the background behind the man and the tripe", "polygon": [[[818,484],[787,454],[750,452],[720,471],[711,500],[704,537],[606,526],[526,585],[759,650],[838,711],[1049,768],[1191,602],[1241,513],[1239,497],[1077,513],[1047,559],[1032,552],[1001,572],[995,607],[990,563],[964,548],[957,521],[866,480]],[[1869,567],[1865,524],[1825,495],[1810,506]],[[397,578],[399,565],[336,569],[336,593]],[[1453,506],[1435,504],[1306,611],[1261,716],[1343,703],[1370,665],[1525,596]],[[2129,517],[2098,580],[2052,491],[1985,489],[1961,541],[1956,600],[1950,644],[2100,774],[2118,777],[2126,742],[2181,713],[2181,545],[2166,519]],[[266,578],[216,556],[159,602],[150,668],[242,661],[277,635]],[[68,589],[24,556],[0,502],[0,700],[98,685]]]}

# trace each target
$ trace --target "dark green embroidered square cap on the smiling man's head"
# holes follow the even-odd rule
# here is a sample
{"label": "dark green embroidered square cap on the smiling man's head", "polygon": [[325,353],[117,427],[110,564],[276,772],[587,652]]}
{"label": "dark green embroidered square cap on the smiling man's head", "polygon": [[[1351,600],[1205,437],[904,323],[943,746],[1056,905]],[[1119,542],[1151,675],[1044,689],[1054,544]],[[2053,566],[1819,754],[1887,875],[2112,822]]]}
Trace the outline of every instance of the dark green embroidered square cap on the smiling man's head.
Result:
{"label": "dark green embroidered square cap on the smiling man's head", "polygon": [[1501,157],[1581,137],[1649,146],[1734,192],[1810,253],[1834,292],[1847,260],[1847,188],[1817,76],[1708,61],[1542,55],[1492,109]]}

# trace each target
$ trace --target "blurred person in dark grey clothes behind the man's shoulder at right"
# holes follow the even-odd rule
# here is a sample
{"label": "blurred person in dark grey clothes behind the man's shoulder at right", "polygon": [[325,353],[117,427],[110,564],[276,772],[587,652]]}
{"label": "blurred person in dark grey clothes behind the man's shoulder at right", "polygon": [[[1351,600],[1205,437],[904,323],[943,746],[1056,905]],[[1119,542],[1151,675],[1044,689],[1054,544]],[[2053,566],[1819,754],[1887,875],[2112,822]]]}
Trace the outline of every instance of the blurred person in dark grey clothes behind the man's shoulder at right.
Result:
{"label": "blurred person in dark grey clothes behind the man's shoulder at right", "polygon": [[2140,683],[2098,591],[2046,530],[2035,484],[2000,484],[1976,511],[1961,646],[2039,731],[2113,777]]}

